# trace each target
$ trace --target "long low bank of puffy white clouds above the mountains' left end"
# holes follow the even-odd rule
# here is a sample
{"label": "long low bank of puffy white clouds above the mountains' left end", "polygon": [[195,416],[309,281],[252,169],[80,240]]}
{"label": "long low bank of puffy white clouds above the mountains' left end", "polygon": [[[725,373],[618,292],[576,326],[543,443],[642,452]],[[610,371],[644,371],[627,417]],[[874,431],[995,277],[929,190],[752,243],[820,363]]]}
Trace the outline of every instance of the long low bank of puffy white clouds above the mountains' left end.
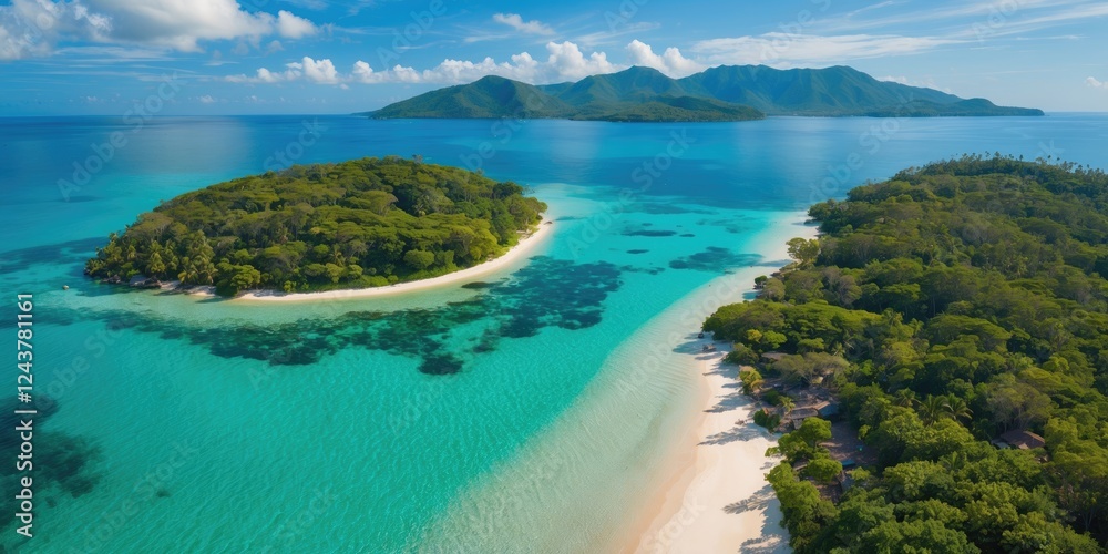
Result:
{"label": "long low bank of puffy white clouds above the mountains' left end", "polygon": [[515,54],[504,62],[496,62],[492,58],[476,62],[448,59],[422,71],[403,65],[375,71],[369,63],[358,60],[349,74],[339,74],[329,59],[316,61],[305,57],[300,62],[286,64],[284,70],[270,71],[260,68],[254,75],[230,75],[225,79],[237,83],[278,83],[302,79],[325,84],[340,84],[348,81],[367,84],[458,84],[476,81],[486,75],[500,75],[538,84],[576,81],[588,75],[613,73],[626,68],[609,62],[604,52],[592,52],[586,55],[576,44],[568,41],[547,43],[546,53],[545,60],[536,60],[527,52]]}

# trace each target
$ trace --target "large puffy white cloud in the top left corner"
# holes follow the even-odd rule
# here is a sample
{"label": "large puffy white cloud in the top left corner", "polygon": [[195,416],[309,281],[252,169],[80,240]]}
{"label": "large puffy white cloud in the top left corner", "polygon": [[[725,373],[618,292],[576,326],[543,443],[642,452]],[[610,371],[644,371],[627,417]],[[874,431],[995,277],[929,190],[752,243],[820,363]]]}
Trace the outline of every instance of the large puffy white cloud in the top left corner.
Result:
{"label": "large puffy white cloud in the top left corner", "polygon": [[185,52],[208,40],[314,34],[307,19],[248,12],[235,0],[12,0],[0,6],[0,59],[49,55],[62,41],[142,44]]}

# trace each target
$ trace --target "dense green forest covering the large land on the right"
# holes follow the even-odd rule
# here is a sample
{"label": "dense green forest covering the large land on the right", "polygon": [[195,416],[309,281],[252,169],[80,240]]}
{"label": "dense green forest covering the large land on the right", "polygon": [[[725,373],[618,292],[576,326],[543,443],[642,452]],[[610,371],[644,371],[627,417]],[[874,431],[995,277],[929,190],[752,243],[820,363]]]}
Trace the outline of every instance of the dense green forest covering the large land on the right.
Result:
{"label": "dense green forest covering the large land on the right", "polygon": [[704,325],[794,429],[768,479],[796,552],[1105,552],[1108,175],[965,156],[810,215]]}

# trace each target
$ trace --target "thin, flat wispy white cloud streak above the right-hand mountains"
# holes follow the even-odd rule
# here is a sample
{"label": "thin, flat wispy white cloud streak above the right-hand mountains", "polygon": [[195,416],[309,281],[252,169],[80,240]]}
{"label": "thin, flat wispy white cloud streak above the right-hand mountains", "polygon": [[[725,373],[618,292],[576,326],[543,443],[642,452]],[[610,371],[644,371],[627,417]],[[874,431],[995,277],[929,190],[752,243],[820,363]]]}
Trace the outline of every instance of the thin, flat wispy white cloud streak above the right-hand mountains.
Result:
{"label": "thin, flat wispy white cloud streak above the right-hand mountains", "polygon": [[822,66],[865,58],[909,55],[964,40],[883,34],[819,37],[771,32],[758,37],[711,39],[697,42],[693,51],[711,64],[765,64],[781,68]]}

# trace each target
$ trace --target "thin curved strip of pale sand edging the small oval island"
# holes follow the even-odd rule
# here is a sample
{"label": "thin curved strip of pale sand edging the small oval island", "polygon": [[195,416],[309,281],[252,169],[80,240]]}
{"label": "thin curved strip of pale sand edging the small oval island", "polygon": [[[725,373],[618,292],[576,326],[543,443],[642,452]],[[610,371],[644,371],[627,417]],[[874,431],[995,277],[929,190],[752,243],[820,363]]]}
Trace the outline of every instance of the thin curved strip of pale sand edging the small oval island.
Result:
{"label": "thin curved strip of pale sand edging the small oval island", "polygon": [[[398,283],[384,287],[371,288],[347,288],[340,290],[322,290],[318,293],[278,293],[276,290],[253,290],[240,294],[230,300],[247,302],[296,302],[311,300],[339,300],[339,299],[361,299],[378,298],[383,296],[402,295],[429,288],[447,287],[450,285],[461,285],[468,280],[476,279],[484,275],[503,269],[516,261],[525,259],[529,253],[550,237],[554,228],[553,218],[544,218],[538,223],[538,227],[530,235],[520,239],[510,250],[493,259],[482,261],[465,269],[459,269],[447,275],[419,279],[408,283]],[[212,287],[199,287],[188,293],[194,296],[214,297]]]}

